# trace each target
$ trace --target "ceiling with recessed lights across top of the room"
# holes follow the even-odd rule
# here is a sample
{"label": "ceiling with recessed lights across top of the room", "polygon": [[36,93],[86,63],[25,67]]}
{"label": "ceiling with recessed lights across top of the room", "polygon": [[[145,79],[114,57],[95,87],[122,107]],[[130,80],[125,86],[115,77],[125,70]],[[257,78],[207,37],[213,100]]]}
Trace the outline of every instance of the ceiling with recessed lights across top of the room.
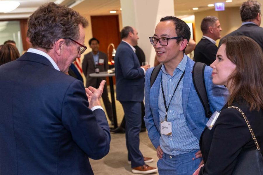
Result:
{"label": "ceiling with recessed lights across top of the room", "polygon": [[[121,13],[120,0],[18,0],[20,6],[9,13],[0,13],[0,20],[28,18],[39,6],[52,1],[67,6],[71,5],[71,8],[82,15],[110,15],[110,10],[116,10],[117,14]],[[240,6],[243,1],[245,0],[233,0],[231,3],[225,3],[225,6]],[[161,2],[165,2],[165,0],[161,0]],[[216,2],[222,2],[222,0],[174,0],[175,15],[191,15],[197,11],[213,9],[214,7],[207,7],[207,4]],[[193,7],[199,9],[193,10]]]}

